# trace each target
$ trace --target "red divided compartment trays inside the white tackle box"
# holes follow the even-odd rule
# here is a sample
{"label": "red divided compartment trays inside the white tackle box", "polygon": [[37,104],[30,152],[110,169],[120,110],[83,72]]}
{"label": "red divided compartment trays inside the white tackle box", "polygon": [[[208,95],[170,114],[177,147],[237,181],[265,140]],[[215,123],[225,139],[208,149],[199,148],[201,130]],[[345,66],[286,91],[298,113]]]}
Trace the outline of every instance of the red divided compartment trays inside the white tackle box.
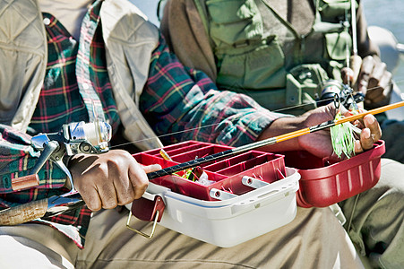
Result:
{"label": "red divided compartment trays inside the white tackle box", "polygon": [[[231,147],[213,143],[187,141],[164,148],[172,161],[164,160],[159,153],[159,149],[133,154],[133,157],[144,165],[159,163],[164,169],[185,161],[192,161],[217,152],[224,152],[228,149],[231,149]],[[248,151],[223,160],[204,163],[201,165],[202,169],[208,174],[209,180],[214,181],[214,183],[208,186],[176,175],[155,178],[150,180],[150,182],[168,187],[171,191],[181,195],[214,201],[217,199],[210,195],[212,188],[235,195],[243,195],[253,190],[254,188],[247,187],[242,183],[244,176],[258,178],[268,183],[285,178],[285,161],[283,158],[283,155],[280,154]],[[178,175],[182,176],[183,172],[178,172]]]}

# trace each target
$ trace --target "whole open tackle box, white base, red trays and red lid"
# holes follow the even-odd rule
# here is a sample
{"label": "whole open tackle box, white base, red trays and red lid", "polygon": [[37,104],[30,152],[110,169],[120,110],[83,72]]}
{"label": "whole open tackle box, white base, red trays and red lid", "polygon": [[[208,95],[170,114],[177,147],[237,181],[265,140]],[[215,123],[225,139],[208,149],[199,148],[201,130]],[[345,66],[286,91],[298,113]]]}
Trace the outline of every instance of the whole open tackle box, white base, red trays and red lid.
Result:
{"label": "whole open tackle box, white base, red trays and red lid", "polygon": [[[188,141],[133,154],[143,165],[159,163],[167,168],[231,147]],[[183,178],[184,172],[150,180],[132,213],[159,225],[214,244],[233,247],[292,221],[297,205],[325,207],[373,187],[380,178],[384,143],[345,161],[331,163],[308,152],[248,151],[202,164],[213,182],[199,184]],[[148,206],[144,205],[147,200]],[[163,205],[157,205],[159,200]],[[143,202],[142,202],[143,201]]]}

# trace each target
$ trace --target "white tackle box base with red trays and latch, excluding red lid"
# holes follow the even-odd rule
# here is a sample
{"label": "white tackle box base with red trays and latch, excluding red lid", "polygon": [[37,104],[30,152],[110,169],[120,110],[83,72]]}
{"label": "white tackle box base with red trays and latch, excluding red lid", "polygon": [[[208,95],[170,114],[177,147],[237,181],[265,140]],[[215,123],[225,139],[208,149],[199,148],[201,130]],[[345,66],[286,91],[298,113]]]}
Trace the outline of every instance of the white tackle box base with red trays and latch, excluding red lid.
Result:
{"label": "white tackle box base with red trays and latch, excluding red lid", "polygon": [[[166,168],[228,149],[190,141],[164,148],[172,161],[163,159],[159,149],[133,157]],[[133,215],[152,221],[156,208],[163,208],[159,225],[219,247],[236,246],[295,218],[300,175],[285,167],[282,155],[249,151],[205,163],[202,169],[214,181],[207,186],[181,178],[182,172],[151,179],[142,198],[133,201]]]}

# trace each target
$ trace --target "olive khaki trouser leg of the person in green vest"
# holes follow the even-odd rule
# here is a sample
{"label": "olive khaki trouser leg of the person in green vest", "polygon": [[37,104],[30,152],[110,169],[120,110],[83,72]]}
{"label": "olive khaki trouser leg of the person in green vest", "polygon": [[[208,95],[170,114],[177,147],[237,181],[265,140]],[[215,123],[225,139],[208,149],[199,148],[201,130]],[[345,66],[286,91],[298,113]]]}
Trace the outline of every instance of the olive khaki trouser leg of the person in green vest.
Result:
{"label": "olive khaki trouser leg of the person in green vest", "polygon": [[370,190],[340,203],[345,228],[374,267],[404,266],[404,165],[382,159],[382,175]]}

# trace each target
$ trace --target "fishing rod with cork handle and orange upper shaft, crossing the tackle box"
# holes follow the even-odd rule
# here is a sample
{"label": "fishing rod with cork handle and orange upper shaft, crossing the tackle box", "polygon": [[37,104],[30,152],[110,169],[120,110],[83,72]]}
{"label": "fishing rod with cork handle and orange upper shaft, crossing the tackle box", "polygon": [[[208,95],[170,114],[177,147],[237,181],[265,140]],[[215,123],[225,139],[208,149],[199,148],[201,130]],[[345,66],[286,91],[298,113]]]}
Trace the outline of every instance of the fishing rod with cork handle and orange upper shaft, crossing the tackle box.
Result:
{"label": "fishing rod with cork handle and orange upper shaft, crossing the tackle box", "polygon": [[[290,132],[288,134],[280,134],[278,136],[273,136],[264,139],[262,141],[248,143],[243,146],[236,147],[234,149],[230,149],[224,152],[218,152],[212,155],[208,155],[206,157],[195,159],[193,161],[186,161],[184,163],[180,163],[175,166],[168,167],[166,169],[160,169],[155,172],[150,172],[147,174],[147,176],[149,179],[154,179],[171,175],[177,171],[193,168],[198,165],[201,165],[202,163],[219,160],[242,152],[254,150],[262,146],[267,146],[274,143],[280,143],[304,134],[311,134],[328,127],[338,126],[346,122],[355,121],[369,114],[376,115],[379,113],[383,113],[387,110],[400,107],[404,107],[404,101],[383,106],[381,108],[374,108],[372,110],[365,111],[357,115],[329,120],[319,125],[306,127],[304,129]],[[42,217],[54,216],[56,214],[63,213],[65,211],[72,210],[73,208],[78,207],[82,204],[84,204],[82,201],[82,196],[77,191],[65,195],[55,195],[46,199],[33,201],[28,204],[21,204],[0,211],[0,225],[16,225],[27,221],[33,221]]]}

